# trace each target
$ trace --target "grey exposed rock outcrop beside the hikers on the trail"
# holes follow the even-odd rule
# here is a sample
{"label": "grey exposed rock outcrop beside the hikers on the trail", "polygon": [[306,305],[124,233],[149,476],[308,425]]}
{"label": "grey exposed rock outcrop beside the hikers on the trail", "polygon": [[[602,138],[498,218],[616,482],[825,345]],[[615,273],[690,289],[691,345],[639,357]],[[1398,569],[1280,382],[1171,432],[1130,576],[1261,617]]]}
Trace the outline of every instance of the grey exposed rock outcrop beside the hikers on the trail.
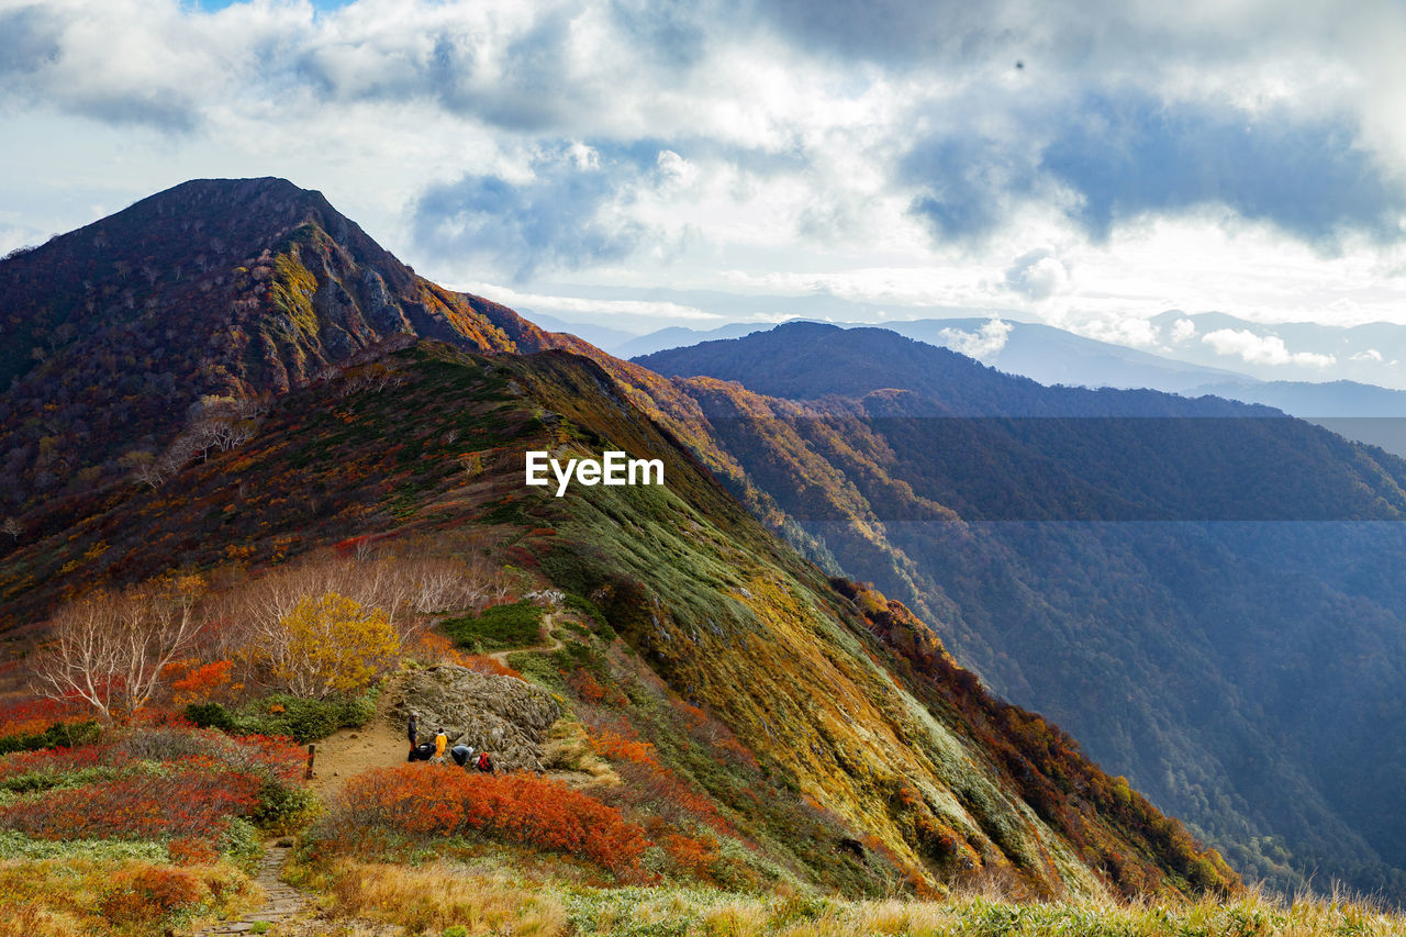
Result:
{"label": "grey exposed rock outcrop beside the hikers on the trail", "polygon": [[420,741],[433,740],[443,726],[450,747],[486,748],[499,771],[541,771],[543,740],[561,716],[561,706],[540,687],[454,665],[406,680],[389,712],[404,729],[411,710],[420,713]]}

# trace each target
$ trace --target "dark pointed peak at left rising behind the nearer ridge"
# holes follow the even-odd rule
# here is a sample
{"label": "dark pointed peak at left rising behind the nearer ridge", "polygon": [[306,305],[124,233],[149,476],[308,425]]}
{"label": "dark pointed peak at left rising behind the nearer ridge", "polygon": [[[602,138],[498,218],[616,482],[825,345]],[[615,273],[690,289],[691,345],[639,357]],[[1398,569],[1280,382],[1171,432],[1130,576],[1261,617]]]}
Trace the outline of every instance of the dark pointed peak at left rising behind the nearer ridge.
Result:
{"label": "dark pointed peak at left rising behind the nearer ridge", "polygon": [[157,457],[202,398],[278,394],[389,336],[547,339],[280,179],[197,180],[0,264],[0,511]]}

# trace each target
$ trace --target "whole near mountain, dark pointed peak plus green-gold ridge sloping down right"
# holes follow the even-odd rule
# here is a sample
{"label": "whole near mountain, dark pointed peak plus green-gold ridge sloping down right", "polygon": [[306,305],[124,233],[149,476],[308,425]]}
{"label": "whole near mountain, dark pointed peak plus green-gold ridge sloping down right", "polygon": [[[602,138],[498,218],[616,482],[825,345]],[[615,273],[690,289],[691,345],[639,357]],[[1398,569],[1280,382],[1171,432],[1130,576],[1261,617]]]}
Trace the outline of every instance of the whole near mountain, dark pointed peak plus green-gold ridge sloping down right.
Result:
{"label": "whole near mountain, dark pointed peak plus green-gold ridge sloping down right", "polygon": [[[191,252],[205,256],[195,272]],[[141,263],[150,274],[122,279]],[[467,543],[519,588],[581,609],[589,625],[558,629],[562,646],[527,656],[526,675],[569,709],[576,744],[589,727],[630,754],[602,796],[665,843],[707,830],[721,884],[1239,888],[1069,736],[986,692],[901,602],[828,578],[768,532],[718,480],[773,519],[775,505],[693,397],[418,279],[315,193],[188,183],[0,263],[0,277],[14,286],[8,328],[51,348],[13,359],[6,415],[22,433],[42,423],[35,452],[56,476],[41,484],[18,463],[27,487],[0,554],[11,647],[96,582],[180,568],[238,591],[318,552]],[[122,383],[143,367],[150,407],[145,377]],[[55,408],[35,405],[44,394]],[[204,401],[217,394],[233,404]],[[177,445],[209,421],[242,432]],[[134,447],[162,470],[112,456]],[[529,450],[614,449],[658,459],[666,484],[561,497],[523,484]]]}

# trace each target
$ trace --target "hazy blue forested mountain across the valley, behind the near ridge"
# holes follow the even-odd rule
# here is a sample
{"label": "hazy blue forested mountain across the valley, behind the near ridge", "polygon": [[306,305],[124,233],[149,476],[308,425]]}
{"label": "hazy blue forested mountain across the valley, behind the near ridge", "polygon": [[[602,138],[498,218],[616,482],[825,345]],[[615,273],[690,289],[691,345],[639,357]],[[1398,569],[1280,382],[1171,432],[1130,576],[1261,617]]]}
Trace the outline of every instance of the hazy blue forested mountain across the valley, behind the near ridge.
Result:
{"label": "hazy blue forested mountain across the valley, behind the near ridge", "polygon": [[1406,758],[1381,741],[1406,719],[1406,463],[1267,408],[1046,388],[880,329],[641,363],[817,559],[1237,868],[1406,896]]}

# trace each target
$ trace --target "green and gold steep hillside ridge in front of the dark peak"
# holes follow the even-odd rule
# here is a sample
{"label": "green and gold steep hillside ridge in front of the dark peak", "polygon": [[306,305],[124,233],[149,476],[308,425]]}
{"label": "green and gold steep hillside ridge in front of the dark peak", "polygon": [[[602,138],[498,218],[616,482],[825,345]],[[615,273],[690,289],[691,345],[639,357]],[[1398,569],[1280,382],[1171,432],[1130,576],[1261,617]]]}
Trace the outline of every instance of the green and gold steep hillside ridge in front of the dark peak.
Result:
{"label": "green and gold steep hillside ridge in front of the dark peak", "polygon": [[[555,498],[522,484],[529,449],[657,457],[666,484]],[[634,782],[678,785],[751,850],[741,869],[846,893],[904,877],[1025,895],[1236,886],[1069,737],[990,698],[900,604],[832,585],[782,546],[578,356],[409,345],[290,391],[252,439],[159,487],[69,504],[0,560],[11,613],[177,564],[498,532],[503,560],[600,615],[529,675],[654,746],[669,774]],[[689,713],[716,729],[673,729]]]}

